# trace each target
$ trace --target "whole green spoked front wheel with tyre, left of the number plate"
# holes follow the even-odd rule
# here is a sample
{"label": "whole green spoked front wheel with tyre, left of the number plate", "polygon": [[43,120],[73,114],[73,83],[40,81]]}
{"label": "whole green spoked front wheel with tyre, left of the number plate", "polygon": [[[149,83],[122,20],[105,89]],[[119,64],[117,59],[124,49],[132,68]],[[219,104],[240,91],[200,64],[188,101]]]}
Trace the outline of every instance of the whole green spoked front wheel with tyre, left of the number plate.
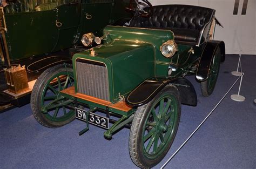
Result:
{"label": "whole green spoked front wheel with tyre, left of the number plate", "polygon": [[[37,79],[31,93],[31,109],[36,120],[46,127],[60,127],[75,119],[73,103],[49,109],[42,112],[41,108],[58,99],[59,92],[73,85],[72,65],[56,65],[45,70]],[[61,99],[53,103],[56,105],[65,102]]]}

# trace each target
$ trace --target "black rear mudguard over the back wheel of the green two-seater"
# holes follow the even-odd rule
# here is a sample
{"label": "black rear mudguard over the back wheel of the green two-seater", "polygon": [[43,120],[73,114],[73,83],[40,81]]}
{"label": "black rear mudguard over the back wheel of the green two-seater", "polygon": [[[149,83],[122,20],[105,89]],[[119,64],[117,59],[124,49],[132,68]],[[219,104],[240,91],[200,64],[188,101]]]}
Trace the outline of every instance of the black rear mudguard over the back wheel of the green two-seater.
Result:
{"label": "black rear mudguard over the back wheel of the green two-seater", "polygon": [[197,67],[196,78],[200,82],[207,80],[209,67],[218,47],[220,48],[221,62],[225,61],[225,43],[223,41],[209,40],[204,47]]}

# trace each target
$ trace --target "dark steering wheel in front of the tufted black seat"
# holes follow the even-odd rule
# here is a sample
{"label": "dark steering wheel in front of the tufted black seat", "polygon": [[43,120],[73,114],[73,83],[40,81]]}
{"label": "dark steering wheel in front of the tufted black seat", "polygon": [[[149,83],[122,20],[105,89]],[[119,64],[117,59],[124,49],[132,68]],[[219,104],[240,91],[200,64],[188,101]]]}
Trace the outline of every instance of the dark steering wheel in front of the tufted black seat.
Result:
{"label": "dark steering wheel in front of the tufted black seat", "polygon": [[152,4],[147,0],[130,0],[130,8],[126,8],[134,12],[134,16],[150,17],[154,11]]}

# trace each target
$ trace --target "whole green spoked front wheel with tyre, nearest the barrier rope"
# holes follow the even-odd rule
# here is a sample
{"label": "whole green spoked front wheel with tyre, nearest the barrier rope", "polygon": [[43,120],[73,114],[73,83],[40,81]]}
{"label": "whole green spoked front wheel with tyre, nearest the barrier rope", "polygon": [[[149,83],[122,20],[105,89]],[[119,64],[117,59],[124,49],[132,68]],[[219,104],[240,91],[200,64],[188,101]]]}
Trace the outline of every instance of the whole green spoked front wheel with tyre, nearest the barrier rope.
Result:
{"label": "whole green spoked front wheel with tyre, nearest the barrier rope", "polygon": [[169,151],[180,120],[180,96],[167,86],[150,103],[138,107],[132,122],[129,150],[134,164],[149,168]]}

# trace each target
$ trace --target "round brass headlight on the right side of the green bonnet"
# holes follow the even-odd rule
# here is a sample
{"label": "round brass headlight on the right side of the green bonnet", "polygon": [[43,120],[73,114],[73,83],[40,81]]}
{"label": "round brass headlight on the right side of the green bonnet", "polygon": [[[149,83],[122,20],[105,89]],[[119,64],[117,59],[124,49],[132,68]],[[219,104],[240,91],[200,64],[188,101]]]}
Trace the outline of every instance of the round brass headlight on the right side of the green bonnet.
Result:
{"label": "round brass headlight on the right side of the green bonnet", "polygon": [[178,45],[174,42],[174,40],[168,40],[167,42],[163,43],[160,47],[161,53],[166,58],[171,58],[175,52],[178,50]]}

